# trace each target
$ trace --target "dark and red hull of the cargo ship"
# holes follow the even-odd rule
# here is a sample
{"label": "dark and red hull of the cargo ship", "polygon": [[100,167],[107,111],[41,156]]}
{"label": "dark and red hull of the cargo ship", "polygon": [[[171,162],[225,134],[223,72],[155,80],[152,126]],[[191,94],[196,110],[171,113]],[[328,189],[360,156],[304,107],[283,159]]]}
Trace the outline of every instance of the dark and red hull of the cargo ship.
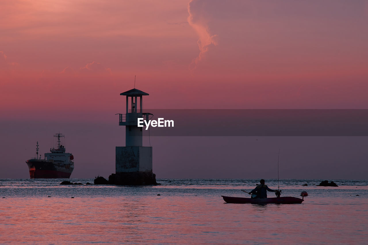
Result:
{"label": "dark and red hull of the cargo ship", "polygon": [[74,167],[66,164],[63,167],[57,166],[56,163],[46,160],[30,159],[26,161],[29,169],[29,177],[31,179],[57,179],[70,178]]}

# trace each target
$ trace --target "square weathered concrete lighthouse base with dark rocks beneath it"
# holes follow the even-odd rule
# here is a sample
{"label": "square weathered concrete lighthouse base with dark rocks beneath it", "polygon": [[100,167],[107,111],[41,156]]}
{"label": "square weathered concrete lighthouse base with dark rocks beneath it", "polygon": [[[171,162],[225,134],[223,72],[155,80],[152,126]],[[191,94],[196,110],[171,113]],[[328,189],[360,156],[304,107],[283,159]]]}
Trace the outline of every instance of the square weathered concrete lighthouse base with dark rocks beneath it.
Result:
{"label": "square weathered concrete lighthouse base with dark rocks beneath it", "polygon": [[152,173],[152,147],[117,146],[115,174],[109,176],[114,185],[157,185]]}

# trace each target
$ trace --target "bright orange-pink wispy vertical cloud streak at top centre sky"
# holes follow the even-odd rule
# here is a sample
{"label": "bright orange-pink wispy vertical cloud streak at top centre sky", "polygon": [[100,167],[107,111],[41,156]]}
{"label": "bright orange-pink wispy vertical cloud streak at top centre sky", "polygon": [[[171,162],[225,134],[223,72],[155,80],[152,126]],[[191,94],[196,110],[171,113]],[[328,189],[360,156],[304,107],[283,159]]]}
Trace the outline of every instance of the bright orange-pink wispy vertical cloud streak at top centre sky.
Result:
{"label": "bright orange-pink wispy vertical cloud streak at top centre sky", "polygon": [[200,13],[194,13],[194,11],[192,11],[193,8],[197,7],[198,4],[202,5],[200,0],[191,0],[188,3],[188,23],[190,26],[192,26],[195,32],[197,32],[197,35],[199,37],[197,41],[199,54],[198,57],[194,58],[192,60],[192,63],[189,65],[190,70],[194,70],[197,67],[199,61],[203,59],[205,53],[208,52],[210,46],[217,45],[217,35],[212,35],[210,33],[206,19],[201,18]]}

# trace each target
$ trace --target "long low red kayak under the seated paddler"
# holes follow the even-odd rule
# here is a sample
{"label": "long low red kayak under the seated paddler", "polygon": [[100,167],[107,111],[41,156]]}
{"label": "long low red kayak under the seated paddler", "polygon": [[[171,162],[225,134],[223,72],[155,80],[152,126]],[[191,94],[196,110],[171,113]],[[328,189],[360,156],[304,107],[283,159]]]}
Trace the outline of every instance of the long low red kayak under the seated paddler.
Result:
{"label": "long low red kayak under the seated paddler", "polygon": [[294,198],[291,196],[282,196],[276,198],[238,198],[232,196],[222,196],[227,203],[256,203],[256,204],[267,204],[267,203],[277,203],[277,204],[293,204],[302,203],[304,199]]}

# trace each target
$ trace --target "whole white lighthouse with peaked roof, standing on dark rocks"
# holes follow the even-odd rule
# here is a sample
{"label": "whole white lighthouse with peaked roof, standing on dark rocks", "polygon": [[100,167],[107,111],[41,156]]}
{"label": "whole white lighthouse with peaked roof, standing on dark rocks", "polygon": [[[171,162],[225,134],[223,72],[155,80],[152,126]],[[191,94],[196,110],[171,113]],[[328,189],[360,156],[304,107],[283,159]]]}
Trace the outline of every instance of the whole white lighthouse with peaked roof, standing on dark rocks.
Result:
{"label": "whole white lighthouse with peaked roof, standing on dark rocks", "polygon": [[119,115],[119,125],[125,126],[125,146],[116,146],[115,174],[109,182],[116,185],[154,185],[156,175],[152,172],[152,146],[143,146],[142,127],[138,118],[149,120],[151,113],[143,112],[143,96],[149,95],[138,89],[131,89],[120,95],[125,96],[125,114]]}

